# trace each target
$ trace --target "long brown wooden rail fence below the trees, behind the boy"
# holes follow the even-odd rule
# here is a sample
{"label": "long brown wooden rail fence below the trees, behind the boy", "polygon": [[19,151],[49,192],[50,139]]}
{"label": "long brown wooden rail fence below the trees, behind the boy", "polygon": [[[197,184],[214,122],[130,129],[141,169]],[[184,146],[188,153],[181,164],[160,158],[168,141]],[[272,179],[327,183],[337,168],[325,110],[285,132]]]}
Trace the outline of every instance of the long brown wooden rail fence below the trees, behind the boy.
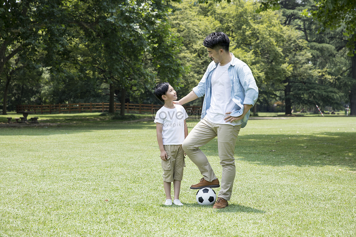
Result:
{"label": "long brown wooden rail fence below the trees, behind the boy", "polygon": [[[125,103],[125,112],[143,113],[154,112],[162,107],[162,104],[132,104]],[[184,106],[189,115],[200,114],[199,106]],[[121,103],[114,104],[114,111],[120,111]],[[82,113],[82,112],[105,112],[109,111],[109,103],[70,103],[70,104],[39,104],[39,105],[17,105],[16,111],[32,111],[33,113]]]}

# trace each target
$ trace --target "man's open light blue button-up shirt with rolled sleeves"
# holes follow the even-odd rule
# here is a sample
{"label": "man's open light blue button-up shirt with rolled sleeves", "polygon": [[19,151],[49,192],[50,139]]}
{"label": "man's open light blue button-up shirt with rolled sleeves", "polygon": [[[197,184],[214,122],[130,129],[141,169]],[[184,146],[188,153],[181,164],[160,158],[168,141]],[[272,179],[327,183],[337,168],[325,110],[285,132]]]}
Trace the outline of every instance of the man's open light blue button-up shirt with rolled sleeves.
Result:
{"label": "man's open light blue button-up shirt with rolled sleeves", "polygon": [[[251,69],[246,63],[232,55],[231,65],[227,69],[230,78],[230,95],[232,101],[234,101],[238,107],[236,111],[231,111],[232,117],[238,117],[244,113],[244,104],[255,105],[258,98],[258,88],[255,78],[252,75]],[[205,95],[203,108],[201,109],[201,119],[206,115],[206,110],[210,107],[211,102],[211,76],[218,64],[212,61],[208,69],[200,80],[199,84],[193,88],[195,95],[202,97]],[[221,101],[224,103],[224,101]],[[227,116],[227,115],[226,115]],[[247,120],[250,117],[250,111],[248,111],[244,118],[242,118],[241,128],[244,128],[247,124]]]}

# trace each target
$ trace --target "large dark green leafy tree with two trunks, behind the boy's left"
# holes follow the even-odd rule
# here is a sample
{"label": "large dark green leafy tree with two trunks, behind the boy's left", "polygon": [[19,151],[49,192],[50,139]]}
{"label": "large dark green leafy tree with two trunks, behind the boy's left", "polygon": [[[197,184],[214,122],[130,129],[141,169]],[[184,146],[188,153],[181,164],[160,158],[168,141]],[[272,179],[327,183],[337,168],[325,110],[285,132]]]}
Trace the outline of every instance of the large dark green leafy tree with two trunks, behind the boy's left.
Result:
{"label": "large dark green leafy tree with two trunks, behind the boy's left", "polygon": [[121,94],[124,115],[125,99],[151,91],[156,76],[174,83],[180,79],[182,67],[175,59],[179,42],[166,24],[166,2],[93,0],[74,1],[68,7],[68,26],[78,38],[73,58],[82,71],[109,85],[109,112],[114,112],[115,91]]}

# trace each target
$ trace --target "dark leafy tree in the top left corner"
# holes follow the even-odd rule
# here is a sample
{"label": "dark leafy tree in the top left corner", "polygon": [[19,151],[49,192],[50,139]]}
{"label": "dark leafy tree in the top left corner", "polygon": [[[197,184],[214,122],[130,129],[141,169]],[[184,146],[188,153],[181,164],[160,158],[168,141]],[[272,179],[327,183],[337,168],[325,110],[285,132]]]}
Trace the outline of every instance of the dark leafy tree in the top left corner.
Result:
{"label": "dark leafy tree in the top left corner", "polygon": [[[38,47],[47,50],[46,59],[61,51],[66,44],[65,29],[59,14],[62,1],[6,0],[0,6],[0,78],[11,71],[9,61],[16,55],[31,59]],[[33,60],[32,60],[33,61]],[[2,114],[6,114],[7,95],[4,94]]]}

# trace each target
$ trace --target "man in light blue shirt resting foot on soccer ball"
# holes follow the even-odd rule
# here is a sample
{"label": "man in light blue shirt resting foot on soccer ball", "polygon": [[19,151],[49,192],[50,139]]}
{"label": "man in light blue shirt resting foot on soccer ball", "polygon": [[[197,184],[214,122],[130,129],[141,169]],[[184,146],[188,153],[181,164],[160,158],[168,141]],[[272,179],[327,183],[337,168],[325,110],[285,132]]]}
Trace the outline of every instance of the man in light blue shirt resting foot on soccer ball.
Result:
{"label": "man in light blue shirt resting foot on soccer ball", "polygon": [[175,102],[183,105],[204,96],[201,120],[183,142],[183,150],[198,166],[203,178],[191,189],[220,187],[213,169],[199,147],[218,137],[221,189],[213,208],[227,207],[235,179],[234,149],[237,135],[246,126],[250,108],[258,98],[258,88],[250,68],[229,52],[230,40],[223,32],[214,32],[203,42],[213,60],[198,86]]}

